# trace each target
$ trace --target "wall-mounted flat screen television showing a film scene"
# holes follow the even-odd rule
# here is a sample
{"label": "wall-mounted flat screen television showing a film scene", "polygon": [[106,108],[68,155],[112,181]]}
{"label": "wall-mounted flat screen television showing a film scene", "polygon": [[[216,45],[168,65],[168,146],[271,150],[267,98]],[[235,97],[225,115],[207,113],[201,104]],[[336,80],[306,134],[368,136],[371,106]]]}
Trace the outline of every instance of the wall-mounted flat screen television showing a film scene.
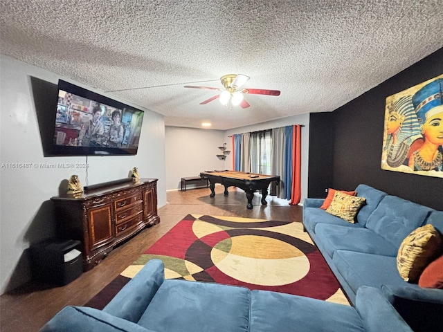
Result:
{"label": "wall-mounted flat screen television showing a film scene", "polygon": [[137,154],[144,112],[58,81],[54,156]]}

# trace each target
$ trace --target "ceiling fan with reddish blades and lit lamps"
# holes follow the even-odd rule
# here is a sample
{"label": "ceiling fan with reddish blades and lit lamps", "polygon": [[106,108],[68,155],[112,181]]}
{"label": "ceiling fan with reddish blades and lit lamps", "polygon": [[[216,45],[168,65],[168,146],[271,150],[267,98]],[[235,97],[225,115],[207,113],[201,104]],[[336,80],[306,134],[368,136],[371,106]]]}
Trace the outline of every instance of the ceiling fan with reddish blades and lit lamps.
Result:
{"label": "ceiling fan with reddish blades and lit lamps", "polygon": [[185,88],[193,88],[193,89],[208,89],[208,90],[219,90],[221,93],[219,95],[215,95],[207,100],[204,100],[200,104],[208,104],[208,102],[212,102],[219,98],[221,104],[227,105],[230,104],[230,107],[240,105],[243,109],[251,106],[245,99],[244,94],[254,94],[254,95],[280,95],[280,91],[278,90],[266,90],[266,89],[240,89],[246,82],[248,82],[249,77],[242,74],[228,74],[221,76],[220,82],[223,88],[213,88],[211,86],[192,86],[185,85]]}

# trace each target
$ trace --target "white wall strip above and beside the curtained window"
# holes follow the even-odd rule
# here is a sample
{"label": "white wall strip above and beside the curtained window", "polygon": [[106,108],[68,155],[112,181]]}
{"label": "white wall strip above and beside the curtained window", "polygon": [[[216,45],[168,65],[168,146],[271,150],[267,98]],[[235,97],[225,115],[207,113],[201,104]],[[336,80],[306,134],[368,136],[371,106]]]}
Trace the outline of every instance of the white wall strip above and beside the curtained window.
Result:
{"label": "white wall strip above and beside the curtained window", "polygon": [[[309,113],[301,114],[299,116],[290,116],[289,118],[283,118],[273,121],[262,122],[258,124],[253,124],[251,126],[239,127],[235,129],[229,129],[225,131],[224,141],[228,142],[228,148],[233,151],[231,138],[235,133],[249,133],[251,131],[259,131],[265,129],[285,127],[292,124],[304,124],[302,127],[302,151],[301,151],[301,190],[302,196],[300,203],[307,197],[307,174],[308,174],[308,163],[309,163]],[[232,158],[233,155],[230,154],[226,158],[225,163],[228,169],[232,169]]]}

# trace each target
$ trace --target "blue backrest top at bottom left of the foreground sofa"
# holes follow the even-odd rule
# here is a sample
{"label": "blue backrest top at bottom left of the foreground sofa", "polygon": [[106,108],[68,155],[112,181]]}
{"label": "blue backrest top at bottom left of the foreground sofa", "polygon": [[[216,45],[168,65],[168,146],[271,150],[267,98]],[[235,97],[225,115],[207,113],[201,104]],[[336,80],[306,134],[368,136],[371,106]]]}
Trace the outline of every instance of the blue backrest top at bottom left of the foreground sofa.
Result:
{"label": "blue backrest top at bottom left of the foreground sofa", "polygon": [[40,332],[155,332],[86,306],[66,306]]}

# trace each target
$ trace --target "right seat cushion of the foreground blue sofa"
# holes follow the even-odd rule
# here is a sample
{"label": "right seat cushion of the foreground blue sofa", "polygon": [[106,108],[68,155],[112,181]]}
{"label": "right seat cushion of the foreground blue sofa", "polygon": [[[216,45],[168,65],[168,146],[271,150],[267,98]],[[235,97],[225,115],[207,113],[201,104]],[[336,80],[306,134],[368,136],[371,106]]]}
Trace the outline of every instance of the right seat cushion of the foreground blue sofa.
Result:
{"label": "right seat cushion of the foreground blue sofa", "polygon": [[252,291],[250,331],[347,332],[365,329],[351,306],[283,293]]}

